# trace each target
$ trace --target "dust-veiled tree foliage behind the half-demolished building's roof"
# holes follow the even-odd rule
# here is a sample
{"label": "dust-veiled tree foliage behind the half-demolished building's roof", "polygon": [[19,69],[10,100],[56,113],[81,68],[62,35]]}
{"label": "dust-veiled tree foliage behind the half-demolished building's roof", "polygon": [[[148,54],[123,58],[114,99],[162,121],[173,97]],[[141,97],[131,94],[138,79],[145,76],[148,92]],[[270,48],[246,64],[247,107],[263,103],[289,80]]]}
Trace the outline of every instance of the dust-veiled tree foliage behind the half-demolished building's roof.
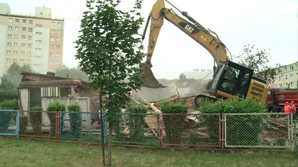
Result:
{"label": "dust-veiled tree foliage behind the half-demolished building's roof", "polygon": [[66,77],[68,74],[68,78],[81,79],[82,81],[89,82],[88,75],[81,71],[81,67],[77,65],[76,67],[69,68],[66,64],[62,65],[62,68],[56,70],[56,76]]}

